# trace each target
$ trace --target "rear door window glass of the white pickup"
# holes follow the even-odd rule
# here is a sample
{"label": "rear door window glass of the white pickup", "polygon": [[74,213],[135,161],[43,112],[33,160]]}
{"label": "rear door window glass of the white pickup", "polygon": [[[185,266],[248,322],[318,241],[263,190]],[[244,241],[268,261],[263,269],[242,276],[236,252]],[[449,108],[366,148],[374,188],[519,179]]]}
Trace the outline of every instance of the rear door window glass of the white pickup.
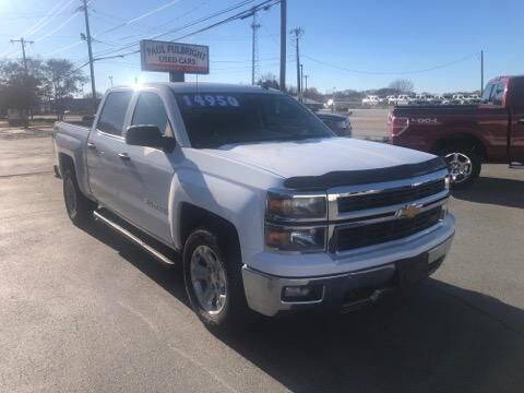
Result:
{"label": "rear door window glass of the white pickup", "polygon": [[126,111],[131,100],[132,92],[109,93],[104,103],[96,128],[112,135],[121,135]]}

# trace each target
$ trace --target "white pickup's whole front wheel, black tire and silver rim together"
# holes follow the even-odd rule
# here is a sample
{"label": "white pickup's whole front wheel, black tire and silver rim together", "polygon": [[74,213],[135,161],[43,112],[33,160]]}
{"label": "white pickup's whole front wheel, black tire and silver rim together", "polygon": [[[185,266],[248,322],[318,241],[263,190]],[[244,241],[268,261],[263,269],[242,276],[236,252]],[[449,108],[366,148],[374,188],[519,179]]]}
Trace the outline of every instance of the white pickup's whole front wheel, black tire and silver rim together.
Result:
{"label": "white pickup's whole front wheel, black tire and silver rim together", "polygon": [[202,323],[212,331],[229,332],[249,322],[254,311],[246,300],[239,247],[218,233],[224,230],[191,233],[183,247],[183,277],[191,307]]}

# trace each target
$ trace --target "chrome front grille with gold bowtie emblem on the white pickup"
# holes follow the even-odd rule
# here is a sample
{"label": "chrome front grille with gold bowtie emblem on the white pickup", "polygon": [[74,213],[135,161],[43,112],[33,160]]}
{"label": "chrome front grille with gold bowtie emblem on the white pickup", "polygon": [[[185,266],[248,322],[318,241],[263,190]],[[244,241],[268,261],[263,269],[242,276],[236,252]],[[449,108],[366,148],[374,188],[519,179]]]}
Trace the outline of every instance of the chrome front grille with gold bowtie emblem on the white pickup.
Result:
{"label": "chrome front grille with gold bowtie emblem on the white pickup", "polygon": [[[329,251],[350,252],[400,240],[438,225],[445,212],[446,170],[372,184],[331,189]],[[403,215],[412,209],[413,216]]]}

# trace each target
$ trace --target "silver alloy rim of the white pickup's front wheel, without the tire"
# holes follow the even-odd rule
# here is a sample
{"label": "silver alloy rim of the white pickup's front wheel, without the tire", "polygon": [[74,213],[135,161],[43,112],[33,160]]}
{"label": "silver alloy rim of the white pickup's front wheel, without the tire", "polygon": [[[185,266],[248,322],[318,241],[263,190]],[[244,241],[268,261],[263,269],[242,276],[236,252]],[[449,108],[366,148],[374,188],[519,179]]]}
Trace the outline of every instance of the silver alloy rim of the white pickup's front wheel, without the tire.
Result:
{"label": "silver alloy rim of the white pickup's front wheel, without the tire", "polygon": [[211,315],[226,305],[226,272],[211,247],[199,246],[191,255],[191,284],[200,306]]}

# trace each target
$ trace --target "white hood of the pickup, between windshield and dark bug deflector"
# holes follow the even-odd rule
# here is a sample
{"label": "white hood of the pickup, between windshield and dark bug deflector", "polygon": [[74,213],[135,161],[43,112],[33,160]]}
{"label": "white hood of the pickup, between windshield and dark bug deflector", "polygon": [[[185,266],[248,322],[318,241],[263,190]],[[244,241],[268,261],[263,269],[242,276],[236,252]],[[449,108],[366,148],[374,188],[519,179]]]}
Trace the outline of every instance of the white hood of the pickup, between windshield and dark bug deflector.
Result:
{"label": "white hood of the pickup, between windshield and dark bug deflector", "polygon": [[284,178],[389,168],[434,158],[431,154],[410,148],[348,138],[225,145],[213,153]]}

